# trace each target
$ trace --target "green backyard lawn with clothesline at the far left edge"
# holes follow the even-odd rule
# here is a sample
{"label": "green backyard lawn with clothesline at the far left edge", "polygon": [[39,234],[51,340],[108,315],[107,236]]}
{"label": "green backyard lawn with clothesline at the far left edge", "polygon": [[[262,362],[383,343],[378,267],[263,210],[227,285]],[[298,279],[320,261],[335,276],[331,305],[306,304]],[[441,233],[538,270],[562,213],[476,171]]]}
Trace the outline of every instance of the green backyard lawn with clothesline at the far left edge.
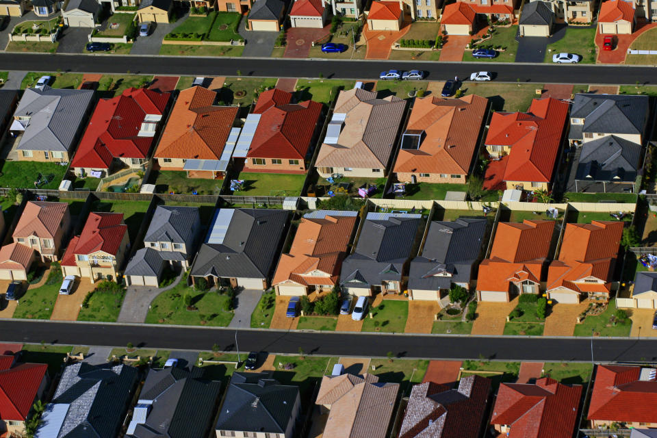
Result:
{"label": "green backyard lawn with clothesline at the far left edge", "polygon": [[34,183],[41,174],[44,178],[52,177],[47,184],[39,186],[41,189],[55,189],[60,187],[64,178],[66,166],[55,163],[40,162],[3,162],[0,166],[0,187],[34,189]]}

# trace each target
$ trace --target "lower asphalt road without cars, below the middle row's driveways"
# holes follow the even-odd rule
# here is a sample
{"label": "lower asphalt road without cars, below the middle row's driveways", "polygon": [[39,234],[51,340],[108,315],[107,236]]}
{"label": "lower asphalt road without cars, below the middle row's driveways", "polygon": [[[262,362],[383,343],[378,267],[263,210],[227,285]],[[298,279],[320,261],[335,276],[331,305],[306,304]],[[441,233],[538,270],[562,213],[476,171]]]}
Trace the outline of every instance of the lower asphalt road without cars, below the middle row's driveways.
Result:
{"label": "lower asphalt road without cars, below the middle row's driveways", "polygon": [[[1,342],[44,342],[64,345],[135,346],[166,350],[235,350],[235,330],[205,327],[85,324],[80,322],[0,321]],[[591,339],[448,337],[437,335],[372,335],[269,330],[237,331],[240,351],[263,350],[298,354],[430,359],[590,361]],[[657,343],[647,339],[594,339],[595,361],[657,361]]]}

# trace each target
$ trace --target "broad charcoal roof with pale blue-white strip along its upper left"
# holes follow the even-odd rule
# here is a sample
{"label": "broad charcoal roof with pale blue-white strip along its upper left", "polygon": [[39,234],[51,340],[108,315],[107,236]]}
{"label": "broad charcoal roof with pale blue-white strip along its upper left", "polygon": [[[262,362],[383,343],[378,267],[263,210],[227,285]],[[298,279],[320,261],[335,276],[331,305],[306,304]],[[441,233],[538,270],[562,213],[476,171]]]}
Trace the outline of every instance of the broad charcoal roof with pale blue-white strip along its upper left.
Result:
{"label": "broad charcoal roof with pale blue-white strip along its upper left", "polygon": [[[222,210],[215,212],[215,219]],[[235,209],[221,243],[204,243],[191,275],[267,279],[279,256],[289,212]],[[214,226],[220,225],[213,220]],[[212,229],[208,233],[213,235]]]}

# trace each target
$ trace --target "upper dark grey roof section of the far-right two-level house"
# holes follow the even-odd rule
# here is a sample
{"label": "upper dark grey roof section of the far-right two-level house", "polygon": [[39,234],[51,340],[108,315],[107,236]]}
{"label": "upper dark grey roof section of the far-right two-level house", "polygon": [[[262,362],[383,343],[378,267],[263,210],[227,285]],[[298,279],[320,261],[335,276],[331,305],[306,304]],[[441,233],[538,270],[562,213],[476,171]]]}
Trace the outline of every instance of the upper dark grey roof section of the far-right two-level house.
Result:
{"label": "upper dark grey roof section of the far-right two-level house", "polygon": [[[576,94],[571,118],[584,118],[582,132],[643,134],[648,117],[648,96]],[[575,125],[571,125],[571,131]],[[573,140],[574,133],[569,136]]]}

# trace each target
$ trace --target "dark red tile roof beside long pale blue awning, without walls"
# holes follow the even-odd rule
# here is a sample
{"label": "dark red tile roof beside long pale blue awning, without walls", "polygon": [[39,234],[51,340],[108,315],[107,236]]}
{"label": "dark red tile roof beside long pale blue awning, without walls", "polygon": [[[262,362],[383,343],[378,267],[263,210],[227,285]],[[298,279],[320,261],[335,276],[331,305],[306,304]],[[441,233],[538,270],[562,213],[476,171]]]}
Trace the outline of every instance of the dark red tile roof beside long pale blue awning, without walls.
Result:
{"label": "dark red tile roof beside long pale blue awning, without walls", "polygon": [[261,116],[246,156],[304,159],[322,114],[322,104],[315,101],[279,104],[274,99],[276,94],[285,93],[292,99],[292,93],[276,90],[264,92],[258,99],[265,102],[256,105],[253,111]]}

